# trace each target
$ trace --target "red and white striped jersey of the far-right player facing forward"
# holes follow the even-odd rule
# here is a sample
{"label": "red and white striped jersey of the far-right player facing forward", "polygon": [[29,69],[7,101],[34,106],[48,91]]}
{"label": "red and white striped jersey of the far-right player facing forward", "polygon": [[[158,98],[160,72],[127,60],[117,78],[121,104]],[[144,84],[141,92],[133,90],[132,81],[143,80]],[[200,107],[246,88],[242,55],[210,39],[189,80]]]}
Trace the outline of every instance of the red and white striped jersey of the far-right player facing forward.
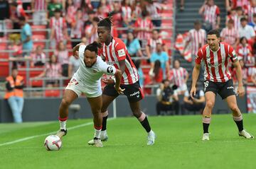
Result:
{"label": "red and white striped jersey of the far-right player facing forward", "polygon": [[209,45],[204,45],[198,50],[196,64],[205,65],[205,80],[213,82],[225,82],[231,78],[228,69],[229,59],[231,62],[238,61],[235,50],[225,42],[220,42],[218,51],[213,52]]}

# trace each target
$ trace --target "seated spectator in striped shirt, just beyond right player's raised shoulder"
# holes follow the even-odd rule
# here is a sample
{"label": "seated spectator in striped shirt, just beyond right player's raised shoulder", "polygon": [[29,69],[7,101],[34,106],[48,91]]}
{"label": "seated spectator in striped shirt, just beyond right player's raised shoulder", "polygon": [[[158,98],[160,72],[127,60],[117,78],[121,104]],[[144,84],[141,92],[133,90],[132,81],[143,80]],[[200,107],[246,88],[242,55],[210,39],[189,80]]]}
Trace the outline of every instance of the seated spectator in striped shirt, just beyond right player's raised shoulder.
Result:
{"label": "seated spectator in striped shirt, just beyond right player's raised shoulder", "polygon": [[254,66],[255,58],[252,56],[252,47],[248,44],[245,37],[240,38],[237,53],[238,59],[242,59],[247,66]]}

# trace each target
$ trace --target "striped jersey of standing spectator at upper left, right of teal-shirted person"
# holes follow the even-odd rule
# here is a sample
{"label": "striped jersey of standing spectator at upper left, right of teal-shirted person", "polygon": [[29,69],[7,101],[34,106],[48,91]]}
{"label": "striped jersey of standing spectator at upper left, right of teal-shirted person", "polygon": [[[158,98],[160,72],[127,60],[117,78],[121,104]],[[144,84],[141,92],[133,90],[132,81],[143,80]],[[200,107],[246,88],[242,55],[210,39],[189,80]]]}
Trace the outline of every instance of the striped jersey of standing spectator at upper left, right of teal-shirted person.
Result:
{"label": "striped jersey of standing spectator at upper left, right of teal-shirted person", "polygon": [[60,17],[58,20],[55,17],[50,18],[50,28],[53,29],[57,42],[64,40],[63,30],[67,28],[65,18]]}

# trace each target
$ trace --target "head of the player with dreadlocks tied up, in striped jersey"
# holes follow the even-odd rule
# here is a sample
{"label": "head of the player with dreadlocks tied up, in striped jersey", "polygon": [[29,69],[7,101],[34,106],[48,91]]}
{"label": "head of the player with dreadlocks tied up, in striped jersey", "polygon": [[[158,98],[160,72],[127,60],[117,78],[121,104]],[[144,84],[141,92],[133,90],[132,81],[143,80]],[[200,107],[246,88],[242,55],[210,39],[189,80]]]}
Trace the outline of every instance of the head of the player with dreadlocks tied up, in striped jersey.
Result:
{"label": "head of the player with dreadlocks tied up, in striped jersey", "polygon": [[102,19],[97,23],[97,34],[100,42],[104,43],[111,40],[111,27],[112,27],[112,17]]}

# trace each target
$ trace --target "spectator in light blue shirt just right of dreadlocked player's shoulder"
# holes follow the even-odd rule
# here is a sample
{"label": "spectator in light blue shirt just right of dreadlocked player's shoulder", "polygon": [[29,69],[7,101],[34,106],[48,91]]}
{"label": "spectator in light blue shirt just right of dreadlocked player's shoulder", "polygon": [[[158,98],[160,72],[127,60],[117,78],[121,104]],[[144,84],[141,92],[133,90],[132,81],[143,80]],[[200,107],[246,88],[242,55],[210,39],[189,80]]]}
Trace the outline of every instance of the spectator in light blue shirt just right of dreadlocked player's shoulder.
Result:
{"label": "spectator in light blue shirt just right of dreadlocked player's shoulder", "polygon": [[142,47],[139,44],[139,40],[134,38],[134,34],[129,32],[127,39],[124,40],[124,44],[127,46],[130,57],[142,57]]}

